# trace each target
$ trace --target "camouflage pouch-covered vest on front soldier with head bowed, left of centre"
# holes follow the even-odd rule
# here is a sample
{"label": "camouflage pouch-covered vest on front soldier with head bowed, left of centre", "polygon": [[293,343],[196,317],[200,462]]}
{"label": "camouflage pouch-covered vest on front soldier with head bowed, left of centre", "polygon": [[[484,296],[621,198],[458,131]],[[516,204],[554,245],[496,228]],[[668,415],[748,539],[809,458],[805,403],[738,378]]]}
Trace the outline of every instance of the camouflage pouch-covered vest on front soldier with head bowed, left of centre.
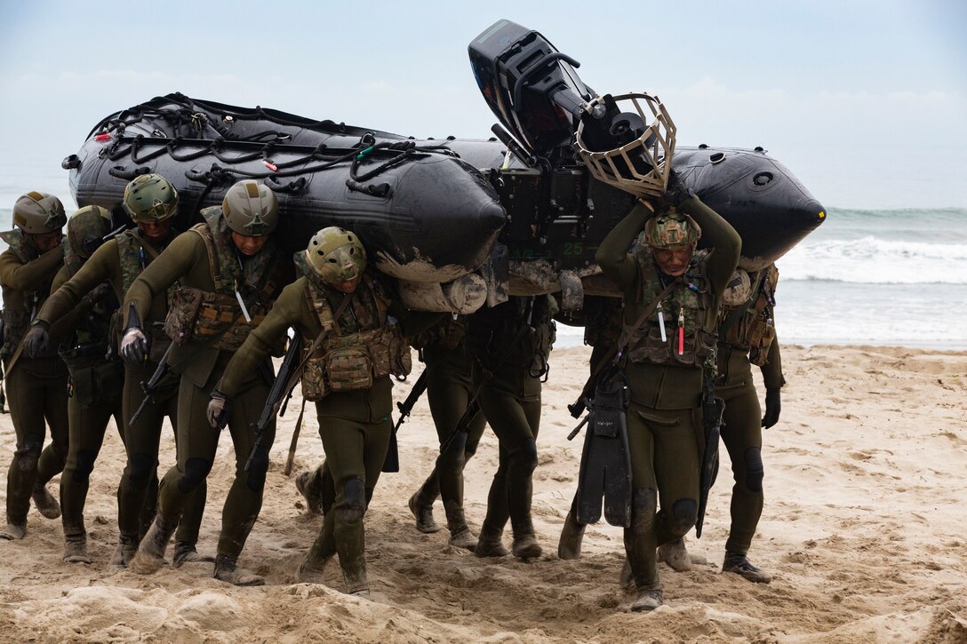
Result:
{"label": "camouflage pouch-covered vest on front soldier with head bowed, left of centre", "polygon": [[[321,400],[333,392],[368,389],[374,378],[403,377],[413,368],[399,325],[387,319],[390,297],[367,273],[338,320],[324,291],[309,277],[308,306],[329,335],[303,371],[303,396]],[[308,348],[307,348],[308,353]]]}

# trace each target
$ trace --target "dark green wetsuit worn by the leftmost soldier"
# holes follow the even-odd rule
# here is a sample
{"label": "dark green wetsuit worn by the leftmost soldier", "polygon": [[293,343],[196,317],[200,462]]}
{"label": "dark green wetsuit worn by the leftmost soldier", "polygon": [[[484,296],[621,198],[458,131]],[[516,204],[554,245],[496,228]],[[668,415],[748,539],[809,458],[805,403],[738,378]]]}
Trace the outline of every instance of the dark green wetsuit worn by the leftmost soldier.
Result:
{"label": "dark green wetsuit worn by the leftmost soldier", "polygon": [[[20,352],[14,368],[12,358],[32,316],[50,292],[50,284],[64,261],[63,245],[38,254],[19,230],[4,233],[10,248],[0,253],[0,285],[3,287],[3,361],[7,401],[16,433],[16,449],[7,472],[7,521],[23,526],[35,485],[46,485],[64,469],[70,434],[67,410],[67,366],[57,356],[57,342],[66,332],[62,325],[50,329],[44,355],[28,358]],[[44,448],[46,425],[50,443]],[[43,449],[43,452],[42,452]]]}

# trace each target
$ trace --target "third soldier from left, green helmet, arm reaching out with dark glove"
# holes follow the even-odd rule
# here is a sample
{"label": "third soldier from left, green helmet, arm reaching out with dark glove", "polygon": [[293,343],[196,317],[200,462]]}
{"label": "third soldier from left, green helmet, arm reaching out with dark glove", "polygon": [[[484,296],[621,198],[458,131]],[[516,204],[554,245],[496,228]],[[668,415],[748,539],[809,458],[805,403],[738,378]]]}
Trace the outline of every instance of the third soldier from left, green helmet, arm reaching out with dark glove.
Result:
{"label": "third soldier from left, green helmet, arm reaching out with dark glove", "polygon": [[[50,324],[53,320],[61,319],[105,281],[110,283],[118,302],[123,301],[134,279],[174,238],[175,231],[171,224],[178,214],[178,192],[161,175],[136,177],[125,188],[122,207],[136,227],[124,231],[95,250],[90,259],[50,295],[38,313],[40,322]],[[111,560],[111,564],[117,568],[128,566],[137,549],[137,542],[154,519],[158,499],[158,451],[164,417],[168,417],[172,427],[177,427],[177,376],[163,381],[141,411],[137,422],[129,424],[134,410],[144,398],[141,383],[146,382],[158,368],[161,356],[171,342],[161,326],[172,290],[159,293],[146,315],[144,326],[150,341],[146,359],[125,365],[121,416],[127,465],[118,485],[119,537]],[[120,312],[117,315],[120,316]],[[119,329],[121,325],[118,321],[112,321],[112,326]],[[120,331],[110,338],[112,347],[116,347],[119,335]],[[211,557],[199,555],[195,550],[202,512],[205,510],[205,496],[206,485],[201,483],[192,492],[186,505],[176,536],[176,566],[187,562],[212,561]]]}

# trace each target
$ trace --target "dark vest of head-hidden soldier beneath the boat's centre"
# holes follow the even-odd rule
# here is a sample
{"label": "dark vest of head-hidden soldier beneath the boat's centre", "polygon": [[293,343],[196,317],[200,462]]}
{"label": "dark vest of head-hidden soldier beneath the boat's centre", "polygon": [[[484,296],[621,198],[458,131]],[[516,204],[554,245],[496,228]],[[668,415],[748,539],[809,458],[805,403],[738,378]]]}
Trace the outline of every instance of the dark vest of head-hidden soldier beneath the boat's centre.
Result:
{"label": "dark vest of head-hidden soldier beneath the boat's centre", "polygon": [[512,296],[505,304],[481,309],[467,322],[467,351],[486,370],[519,366],[540,377],[557,339],[552,319],[557,310],[550,295]]}

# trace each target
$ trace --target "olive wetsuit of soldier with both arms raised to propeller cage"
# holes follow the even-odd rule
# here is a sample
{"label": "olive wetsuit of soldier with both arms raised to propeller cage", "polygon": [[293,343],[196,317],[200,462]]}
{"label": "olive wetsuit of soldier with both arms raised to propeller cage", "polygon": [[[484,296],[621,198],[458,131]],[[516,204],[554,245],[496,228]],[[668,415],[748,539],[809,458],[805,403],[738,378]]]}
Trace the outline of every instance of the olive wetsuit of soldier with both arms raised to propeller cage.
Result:
{"label": "olive wetsuit of soldier with both arms raised to propeller cage", "polygon": [[[705,262],[704,281],[712,306],[700,310],[696,323],[714,326],[721,295],[739,259],[742,241],[735,230],[697,197],[678,208],[702,228],[702,238],[712,251]],[[629,252],[642,225],[652,217],[644,205],[636,205],[601,242],[597,261],[604,274],[621,288],[625,297],[625,323],[634,325],[645,307],[643,283],[661,280],[650,253]],[[697,258],[697,254],[696,254]],[[695,270],[693,265],[689,271]],[[687,289],[688,279],[677,290]],[[668,336],[674,337],[680,299],[672,291],[665,296]],[[656,315],[653,313],[651,320]],[[649,321],[645,324],[654,324]],[[633,347],[630,355],[634,358]],[[656,548],[684,536],[694,525],[698,510],[698,469],[701,431],[702,366],[656,364],[646,358],[625,366],[630,390],[628,434],[631,456],[631,525],[625,529],[625,548],[639,591],[660,589]],[[659,507],[661,510],[658,512]]]}

